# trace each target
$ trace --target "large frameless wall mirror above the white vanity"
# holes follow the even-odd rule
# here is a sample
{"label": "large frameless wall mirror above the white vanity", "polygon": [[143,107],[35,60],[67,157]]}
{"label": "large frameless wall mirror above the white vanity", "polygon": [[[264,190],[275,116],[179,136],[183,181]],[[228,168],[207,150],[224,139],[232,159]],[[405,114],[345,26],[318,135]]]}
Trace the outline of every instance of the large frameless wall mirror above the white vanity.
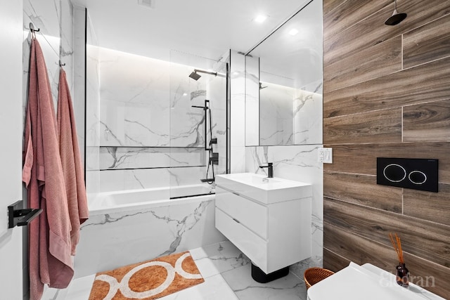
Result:
{"label": "large frameless wall mirror above the white vanity", "polygon": [[322,39],[312,0],[248,53],[245,145],[322,143]]}

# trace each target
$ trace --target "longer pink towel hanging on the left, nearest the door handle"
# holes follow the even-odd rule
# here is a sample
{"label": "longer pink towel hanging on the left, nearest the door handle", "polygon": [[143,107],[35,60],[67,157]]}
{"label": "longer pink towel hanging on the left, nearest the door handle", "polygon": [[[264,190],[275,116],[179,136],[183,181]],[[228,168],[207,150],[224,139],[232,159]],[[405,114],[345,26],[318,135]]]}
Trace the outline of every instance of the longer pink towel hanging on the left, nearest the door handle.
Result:
{"label": "longer pink towel hanging on the left, nearest the door handle", "polygon": [[28,207],[43,210],[29,228],[32,300],[41,299],[44,284],[67,287],[74,273],[57,130],[44,55],[37,40],[32,38],[23,181],[28,190]]}

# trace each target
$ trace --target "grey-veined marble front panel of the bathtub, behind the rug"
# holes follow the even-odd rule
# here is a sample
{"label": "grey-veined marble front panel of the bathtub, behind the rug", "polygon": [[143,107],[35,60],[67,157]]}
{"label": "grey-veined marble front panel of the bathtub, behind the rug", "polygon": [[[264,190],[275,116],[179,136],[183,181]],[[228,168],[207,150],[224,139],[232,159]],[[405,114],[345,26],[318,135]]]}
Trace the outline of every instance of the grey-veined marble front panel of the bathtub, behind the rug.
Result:
{"label": "grey-veined marble front panel of the bathtub, behind the rug", "polygon": [[214,200],[91,216],[81,228],[75,278],[224,241]]}

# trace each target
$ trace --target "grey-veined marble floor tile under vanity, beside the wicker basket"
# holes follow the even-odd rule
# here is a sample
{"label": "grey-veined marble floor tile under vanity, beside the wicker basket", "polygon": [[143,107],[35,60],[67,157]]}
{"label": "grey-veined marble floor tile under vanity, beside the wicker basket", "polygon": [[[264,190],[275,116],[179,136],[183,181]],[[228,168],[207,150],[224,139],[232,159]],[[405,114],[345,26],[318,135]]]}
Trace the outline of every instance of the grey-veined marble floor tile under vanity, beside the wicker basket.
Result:
{"label": "grey-veined marble floor tile under vanity, beside the wicker basket", "polygon": [[289,273],[287,276],[267,283],[252,279],[251,265],[229,270],[221,275],[233,289],[239,300],[306,300],[307,291],[303,280]]}

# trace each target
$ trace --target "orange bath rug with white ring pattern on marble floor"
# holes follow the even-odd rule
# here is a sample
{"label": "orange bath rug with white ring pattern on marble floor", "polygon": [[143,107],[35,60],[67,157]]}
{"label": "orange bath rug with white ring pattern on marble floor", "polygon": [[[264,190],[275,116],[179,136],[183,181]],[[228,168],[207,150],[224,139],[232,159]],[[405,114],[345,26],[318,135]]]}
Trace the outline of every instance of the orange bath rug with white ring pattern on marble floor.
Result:
{"label": "orange bath rug with white ring pattern on marble floor", "polygon": [[158,299],[204,281],[187,251],[97,273],[89,300]]}

